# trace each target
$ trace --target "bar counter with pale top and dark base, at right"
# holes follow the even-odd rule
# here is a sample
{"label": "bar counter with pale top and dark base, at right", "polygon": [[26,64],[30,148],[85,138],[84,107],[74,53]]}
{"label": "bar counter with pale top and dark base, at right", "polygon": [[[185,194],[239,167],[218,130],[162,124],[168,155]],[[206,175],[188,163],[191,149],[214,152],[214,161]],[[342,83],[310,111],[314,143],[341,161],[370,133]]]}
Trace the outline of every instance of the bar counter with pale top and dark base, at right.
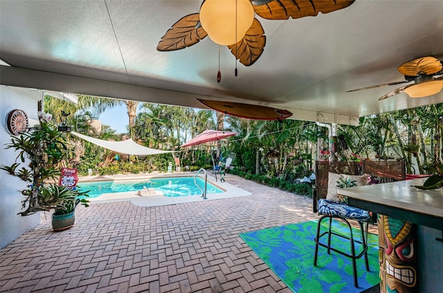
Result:
{"label": "bar counter with pale top and dark base, at right", "polygon": [[[443,292],[443,188],[421,190],[426,178],[338,188],[350,206],[417,225],[417,292]],[[379,226],[379,235],[383,227]],[[383,282],[382,282],[383,283]]]}

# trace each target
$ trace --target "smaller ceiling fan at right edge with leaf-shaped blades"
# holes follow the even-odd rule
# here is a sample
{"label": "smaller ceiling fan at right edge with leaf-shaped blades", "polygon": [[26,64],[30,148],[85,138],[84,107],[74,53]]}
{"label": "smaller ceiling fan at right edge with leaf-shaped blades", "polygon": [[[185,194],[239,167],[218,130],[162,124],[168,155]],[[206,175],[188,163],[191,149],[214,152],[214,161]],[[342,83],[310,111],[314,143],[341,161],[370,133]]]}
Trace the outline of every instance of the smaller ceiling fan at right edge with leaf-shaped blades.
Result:
{"label": "smaller ceiling fan at right edge with leaf-shaped blades", "polygon": [[[432,56],[419,57],[401,64],[397,70],[404,75],[405,80],[398,82],[388,82],[381,85],[372,85],[370,87],[362,87],[361,89],[352,89],[346,91],[361,91],[363,89],[374,89],[376,87],[384,87],[386,85],[400,85],[402,83],[411,82],[412,85],[405,85],[390,91],[388,94],[381,96],[379,100],[390,98],[397,94],[406,93],[411,98],[423,98],[439,93],[443,88],[443,61]],[[442,75],[442,76],[440,76]],[[435,78],[435,76],[440,76]]]}

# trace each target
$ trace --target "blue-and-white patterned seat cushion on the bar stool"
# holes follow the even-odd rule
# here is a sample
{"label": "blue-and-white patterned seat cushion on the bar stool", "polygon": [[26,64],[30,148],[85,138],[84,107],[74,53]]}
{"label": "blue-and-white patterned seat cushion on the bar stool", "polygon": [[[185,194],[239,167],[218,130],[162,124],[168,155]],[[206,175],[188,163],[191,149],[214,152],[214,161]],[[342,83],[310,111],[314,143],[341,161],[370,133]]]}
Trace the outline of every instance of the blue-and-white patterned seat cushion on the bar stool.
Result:
{"label": "blue-and-white patterned seat cushion on the bar stool", "polygon": [[348,206],[343,202],[334,202],[329,199],[318,200],[318,214],[345,217],[347,219],[358,221],[368,221],[371,219],[368,211]]}

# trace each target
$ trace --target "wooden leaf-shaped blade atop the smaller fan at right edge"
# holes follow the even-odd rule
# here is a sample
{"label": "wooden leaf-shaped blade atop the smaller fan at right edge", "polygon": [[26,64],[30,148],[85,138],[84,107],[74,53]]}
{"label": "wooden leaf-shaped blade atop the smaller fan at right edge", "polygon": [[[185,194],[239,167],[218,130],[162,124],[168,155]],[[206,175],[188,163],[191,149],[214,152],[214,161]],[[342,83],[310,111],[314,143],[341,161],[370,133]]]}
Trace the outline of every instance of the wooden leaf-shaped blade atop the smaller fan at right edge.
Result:
{"label": "wooden leaf-shaped blade atop the smaller fan at right edge", "polygon": [[419,76],[419,74],[430,76],[442,71],[442,69],[443,63],[440,60],[432,56],[426,56],[404,62],[399,66],[398,71],[405,76]]}

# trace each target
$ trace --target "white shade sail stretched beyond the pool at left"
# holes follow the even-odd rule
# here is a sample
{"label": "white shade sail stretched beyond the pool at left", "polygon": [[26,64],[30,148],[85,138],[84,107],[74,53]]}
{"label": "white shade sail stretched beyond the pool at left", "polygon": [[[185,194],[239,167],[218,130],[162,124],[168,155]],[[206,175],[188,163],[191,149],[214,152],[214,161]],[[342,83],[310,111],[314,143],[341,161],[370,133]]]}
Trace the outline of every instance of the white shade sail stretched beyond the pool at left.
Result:
{"label": "white shade sail stretched beyond the pool at left", "polygon": [[114,150],[114,152],[118,152],[120,154],[147,156],[150,154],[165,154],[167,152],[172,152],[170,150],[155,150],[153,148],[146,148],[143,145],[139,145],[132,139],[127,139],[126,141],[104,141],[102,139],[96,139],[91,136],[80,134],[78,132],[71,132],[71,134],[80,137],[80,139],[84,139],[85,141],[89,141],[95,145],[98,145],[102,148]]}

